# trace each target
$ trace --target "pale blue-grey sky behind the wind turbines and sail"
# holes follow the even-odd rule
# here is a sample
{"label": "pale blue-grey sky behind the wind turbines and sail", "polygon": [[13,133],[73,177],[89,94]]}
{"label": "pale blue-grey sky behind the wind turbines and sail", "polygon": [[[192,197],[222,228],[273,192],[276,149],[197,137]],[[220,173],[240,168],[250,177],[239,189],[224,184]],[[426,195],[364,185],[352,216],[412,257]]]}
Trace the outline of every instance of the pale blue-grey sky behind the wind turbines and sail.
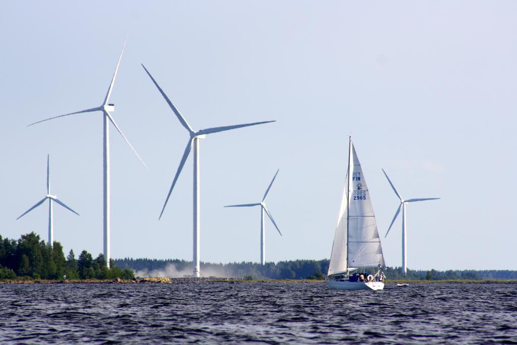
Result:
{"label": "pale blue-grey sky behind the wind turbines and sail", "polygon": [[188,132],[141,64],[195,129],[277,122],[201,141],[201,260],[324,259],[345,183],[348,133],[368,183],[388,266],[517,269],[514,128],[517,3],[512,1],[3,2],[0,145],[3,237],[54,238],[102,252],[102,113],[111,101],[113,258],[192,259],[192,156],[158,220]]}

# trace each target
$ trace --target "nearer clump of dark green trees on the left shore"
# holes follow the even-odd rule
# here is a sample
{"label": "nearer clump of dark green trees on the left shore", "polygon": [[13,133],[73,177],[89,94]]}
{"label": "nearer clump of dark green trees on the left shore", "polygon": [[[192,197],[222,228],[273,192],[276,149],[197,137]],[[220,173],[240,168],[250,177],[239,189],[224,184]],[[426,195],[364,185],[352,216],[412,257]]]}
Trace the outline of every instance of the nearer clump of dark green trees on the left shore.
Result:
{"label": "nearer clump of dark green trees on the left shore", "polygon": [[120,269],[112,261],[108,268],[103,254],[94,259],[83,250],[76,259],[70,250],[65,258],[59,242],[51,247],[34,232],[22,235],[18,241],[0,235],[0,279],[63,279],[65,276],[67,279],[134,278],[131,269]]}

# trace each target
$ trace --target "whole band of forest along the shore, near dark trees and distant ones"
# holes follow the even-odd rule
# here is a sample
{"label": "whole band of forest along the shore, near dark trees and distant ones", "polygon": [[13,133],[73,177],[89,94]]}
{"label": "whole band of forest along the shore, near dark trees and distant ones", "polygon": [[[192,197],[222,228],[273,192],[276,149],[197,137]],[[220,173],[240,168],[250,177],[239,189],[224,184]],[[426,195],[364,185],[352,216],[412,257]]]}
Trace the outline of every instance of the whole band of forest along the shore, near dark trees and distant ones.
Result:
{"label": "whole band of forest along the shore, near dark trees and distant ones", "polygon": [[[250,279],[325,279],[329,260],[291,260],[267,262],[201,263],[207,276],[247,277]],[[112,259],[107,267],[103,254],[95,259],[83,250],[76,259],[73,250],[65,257],[63,246],[48,246],[34,232],[17,241],[0,235],[0,279],[131,279],[136,275],[178,277],[192,274],[192,262],[178,259]],[[402,274],[400,267],[383,269],[388,279],[415,280],[482,280],[517,279],[517,271],[509,270],[413,270]]]}

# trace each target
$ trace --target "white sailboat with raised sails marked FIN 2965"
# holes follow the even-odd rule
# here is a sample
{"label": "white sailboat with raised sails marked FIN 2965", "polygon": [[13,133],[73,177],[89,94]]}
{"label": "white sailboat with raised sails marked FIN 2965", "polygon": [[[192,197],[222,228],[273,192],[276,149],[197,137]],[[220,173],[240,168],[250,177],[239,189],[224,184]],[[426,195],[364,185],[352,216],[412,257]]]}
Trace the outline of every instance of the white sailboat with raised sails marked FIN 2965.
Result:
{"label": "white sailboat with raised sails marked FIN 2965", "polygon": [[370,193],[350,137],[346,182],[325,284],[339,290],[382,290],[383,267]]}

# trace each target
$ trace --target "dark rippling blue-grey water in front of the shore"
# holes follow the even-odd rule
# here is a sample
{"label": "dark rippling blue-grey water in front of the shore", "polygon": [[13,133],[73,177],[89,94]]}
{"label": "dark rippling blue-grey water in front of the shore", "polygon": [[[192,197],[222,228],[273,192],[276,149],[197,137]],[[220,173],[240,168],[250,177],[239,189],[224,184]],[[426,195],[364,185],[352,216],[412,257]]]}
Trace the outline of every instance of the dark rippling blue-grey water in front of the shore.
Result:
{"label": "dark rippling blue-grey water in front of the shore", "polygon": [[517,343],[517,285],[0,284],[0,343]]}

